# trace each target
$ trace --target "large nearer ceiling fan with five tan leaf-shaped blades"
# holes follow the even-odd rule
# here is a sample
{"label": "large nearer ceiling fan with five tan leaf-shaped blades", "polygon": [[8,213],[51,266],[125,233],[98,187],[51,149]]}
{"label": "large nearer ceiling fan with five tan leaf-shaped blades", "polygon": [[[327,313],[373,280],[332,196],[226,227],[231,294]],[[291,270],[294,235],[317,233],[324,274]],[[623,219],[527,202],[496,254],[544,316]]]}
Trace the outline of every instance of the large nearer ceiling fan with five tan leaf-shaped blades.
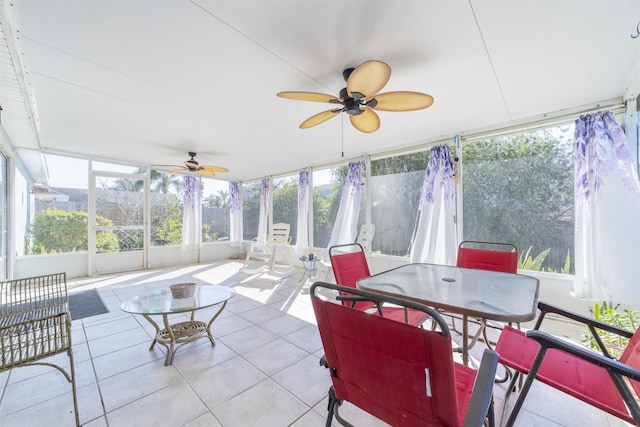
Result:
{"label": "large nearer ceiling fan with five tan leaf-shaped blades", "polygon": [[[281,98],[301,101],[328,102],[340,104],[335,108],[309,117],[300,124],[300,129],[319,125],[338,114],[349,114],[353,127],[361,132],[375,132],[380,127],[378,111],[413,111],[430,107],[433,97],[420,92],[387,92],[377,94],[389,81],[391,67],[382,61],[366,61],[356,68],[342,72],[347,87],[340,90],[340,97],[317,92],[280,92]],[[377,95],[376,95],[377,94]]]}

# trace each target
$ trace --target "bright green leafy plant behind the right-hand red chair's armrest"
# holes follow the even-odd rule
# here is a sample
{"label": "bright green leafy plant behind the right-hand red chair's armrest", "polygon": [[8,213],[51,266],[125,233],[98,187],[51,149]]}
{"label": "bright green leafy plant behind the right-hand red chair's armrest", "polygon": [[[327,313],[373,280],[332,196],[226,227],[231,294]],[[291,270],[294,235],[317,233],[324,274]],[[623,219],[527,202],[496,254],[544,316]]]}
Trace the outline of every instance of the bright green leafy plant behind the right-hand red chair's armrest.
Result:
{"label": "bright green leafy plant behind the right-hand red chair's armrest", "polygon": [[[609,301],[609,303],[603,301],[602,304],[595,303],[589,311],[593,315],[593,318],[600,322],[629,331],[635,331],[640,322],[640,319],[638,319],[638,312],[626,308],[620,312],[618,310],[619,307],[620,304],[614,305],[611,301]],[[598,331],[598,335],[600,336],[602,343],[607,348],[607,351],[616,358],[620,357],[629,342],[628,338],[621,337],[620,335],[611,332]],[[582,342],[593,350],[600,350],[595,338],[591,335],[591,332],[588,329],[583,335]]]}

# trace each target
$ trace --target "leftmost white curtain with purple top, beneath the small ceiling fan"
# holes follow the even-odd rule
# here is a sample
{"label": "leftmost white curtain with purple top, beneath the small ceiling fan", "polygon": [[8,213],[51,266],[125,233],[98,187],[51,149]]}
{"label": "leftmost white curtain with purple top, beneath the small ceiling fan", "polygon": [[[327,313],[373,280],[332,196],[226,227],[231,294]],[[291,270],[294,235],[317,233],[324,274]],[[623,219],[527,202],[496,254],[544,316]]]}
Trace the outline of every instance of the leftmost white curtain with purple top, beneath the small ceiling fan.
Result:
{"label": "leftmost white curtain with purple top, beneath the small ceiling fan", "polygon": [[182,180],[182,247],[202,246],[202,184],[193,176]]}

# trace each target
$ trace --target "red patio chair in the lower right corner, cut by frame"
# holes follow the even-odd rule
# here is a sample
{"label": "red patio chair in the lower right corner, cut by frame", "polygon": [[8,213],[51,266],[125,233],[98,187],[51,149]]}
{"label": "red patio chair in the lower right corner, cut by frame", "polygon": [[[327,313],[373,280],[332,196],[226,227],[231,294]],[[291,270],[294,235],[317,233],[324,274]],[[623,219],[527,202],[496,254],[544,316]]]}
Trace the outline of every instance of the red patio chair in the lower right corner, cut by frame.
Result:
{"label": "red patio chair in the lower right corner, cut by frame", "polygon": [[[520,373],[528,375],[506,425],[515,423],[534,379],[629,423],[640,425],[640,407],[634,396],[634,392],[640,395],[640,328],[633,333],[544,302],[538,303],[538,309],[540,316],[534,329],[524,333],[505,326],[496,346],[500,363],[516,371],[505,396],[505,409]],[[539,330],[547,313],[586,325],[601,353]],[[598,337],[597,329],[630,338],[619,360],[609,354]]]}

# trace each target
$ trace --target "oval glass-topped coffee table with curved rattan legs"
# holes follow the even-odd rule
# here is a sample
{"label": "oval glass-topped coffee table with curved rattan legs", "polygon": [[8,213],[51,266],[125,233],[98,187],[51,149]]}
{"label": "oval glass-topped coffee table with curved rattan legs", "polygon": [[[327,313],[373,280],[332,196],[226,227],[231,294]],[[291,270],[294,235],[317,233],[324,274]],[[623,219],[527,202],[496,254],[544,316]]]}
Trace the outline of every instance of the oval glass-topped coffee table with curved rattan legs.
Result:
{"label": "oval glass-topped coffee table with curved rattan legs", "polygon": [[[200,338],[209,338],[211,345],[216,342],[211,335],[211,324],[218,318],[222,310],[227,306],[229,299],[235,293],[224,286],[197,285],[192,297],[173,298],[171,291],[167,289],[149,292],[144,295],[135,296],[120,305],[120,310],[131,314],[142,314],[156,329],[156,336],[151,343],[149,350],[152,350],[156,343],[167,349],[165,366],[173,363],[173,356],[178,348]],[[220,308],[214,313],[208,322],[195,320],[195,313],[198,310],[219,305]],[[179,313],[191,313],[191,319],[185,322],[170,324],[169,315]],[[151,316],[162,316],[164,328],[151,318]]]}

